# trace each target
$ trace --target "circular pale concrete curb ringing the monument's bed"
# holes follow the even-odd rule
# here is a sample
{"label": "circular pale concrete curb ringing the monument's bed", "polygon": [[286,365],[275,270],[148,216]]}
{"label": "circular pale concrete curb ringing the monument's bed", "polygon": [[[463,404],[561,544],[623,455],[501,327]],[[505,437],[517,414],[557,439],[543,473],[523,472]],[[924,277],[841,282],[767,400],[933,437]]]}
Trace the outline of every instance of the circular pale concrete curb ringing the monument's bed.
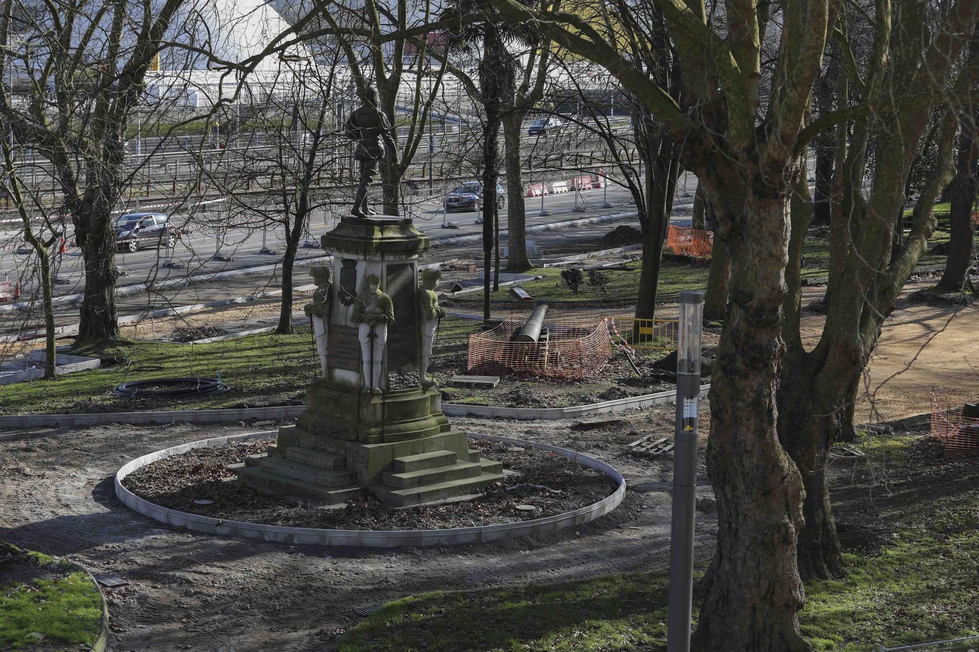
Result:
{"label": "circular pale concrete curb ringing the monument's bed", "polygon": [[518,536],[542,535],[556,532],[574,525],[581,525],[608,514],[619,506],[626,495],[626,479],[614,467],[583,453],[553,446],[547,443],[518,440],[495,435],[466,433],[475,440],[490,442],[512,443],[527,448],[546,450],[570,460],[578,462],[590,469],[602,471],[616,483],[616,489],[601,500],[585,507],[571,511],[546,516],[531,521],[503,523],[471,528],[452,528],[446,530],[321,530],[318,528],[290,528],[285,526],[269,526],[240,521],[224,521],[208,516],[188,514],[173,509],[161,507],[156,503],[141,498],[122,486],[122,480],[127,475],[151,462],[188,452],[195,448],[215,447],[228,443],[244,442],[258,437],[274,435],[276,431],[245,433],[227,437],[216,437],[209,440],[183,443],[163,450],[137,457],[124,464],[116,473],[114,483],[116,495],[130,509],[147,516],[155,521],[165,523],[175,528],[183,528],[192,532],[208,535],[244,536],[264,541],[280,543],[309,544],[309,545],[356,545],[376,548],[393,547],[424,547],[431,545],[460,545],[466,543],[486,543]]}

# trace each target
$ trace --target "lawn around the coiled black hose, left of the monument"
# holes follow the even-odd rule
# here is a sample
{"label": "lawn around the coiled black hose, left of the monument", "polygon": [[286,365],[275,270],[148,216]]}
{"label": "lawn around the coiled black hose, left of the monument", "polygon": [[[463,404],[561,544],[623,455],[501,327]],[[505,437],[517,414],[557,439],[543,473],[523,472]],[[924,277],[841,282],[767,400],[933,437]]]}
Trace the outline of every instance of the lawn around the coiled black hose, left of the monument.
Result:
{"label": "lawn around the coiled black hose, left of the monument", "polygon": [[[303,402],[314,369],[308,326],[293,335],[255,335],[204,345],[124,343],[99,356],[116,356],[118,362],[53,380],[8,385],[0,408],[4,414],[24,414],[296,404]],[[231,392],[156,404],[151,399],[110,394],[126,381],[218,373]]]}

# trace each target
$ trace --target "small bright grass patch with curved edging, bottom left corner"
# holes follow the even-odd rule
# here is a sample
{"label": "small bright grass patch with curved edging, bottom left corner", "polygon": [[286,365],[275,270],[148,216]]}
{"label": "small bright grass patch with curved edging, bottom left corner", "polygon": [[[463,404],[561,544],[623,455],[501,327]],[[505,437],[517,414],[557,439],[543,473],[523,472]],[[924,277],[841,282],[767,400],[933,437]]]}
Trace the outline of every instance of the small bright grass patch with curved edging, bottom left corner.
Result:
{"label": "small bright grass patch with curved edging, bottom left corner", "polygon": [[[55,580],[0,585],[0,649],[19,650],[43,635],[44,643],[91,645],[102,622],[99,591],[81,572],[65,562],[37,555],[42,567],[64,570]],[[0,580],[3,575],[0,574]]]}

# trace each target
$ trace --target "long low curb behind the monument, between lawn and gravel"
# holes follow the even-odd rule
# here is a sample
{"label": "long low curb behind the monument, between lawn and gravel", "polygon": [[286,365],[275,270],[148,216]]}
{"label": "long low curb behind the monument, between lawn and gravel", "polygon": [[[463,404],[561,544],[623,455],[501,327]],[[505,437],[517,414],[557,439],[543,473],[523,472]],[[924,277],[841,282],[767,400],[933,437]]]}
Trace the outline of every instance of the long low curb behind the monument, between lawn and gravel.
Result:
{"label": "long low curb behind the monument, between lawn and gravel", "polygon": [[[706,396],[710,385],[700,388],[700,396]],[[676,390],[616,398],[599,403],[571,407],[505,407],[501,405],[467,405],[443,403],[443,413],[449,416],[481,416],[496,419],[540,419],[544,421],[573,419],[588,414],[619,412],[633,407],[663,405],[676,400]],[[23,428],[77,428],[98,426],[106,423],[164,424],[164,423],[220,423],[224,421],[251,421],[254,419],[292,419],[303,413],[305,405],[281,405],[277,407],[239,407],[216,410],[163,410],[157,412],[96,412],[90,414],[23,414],[0,416],[0,430]]]}

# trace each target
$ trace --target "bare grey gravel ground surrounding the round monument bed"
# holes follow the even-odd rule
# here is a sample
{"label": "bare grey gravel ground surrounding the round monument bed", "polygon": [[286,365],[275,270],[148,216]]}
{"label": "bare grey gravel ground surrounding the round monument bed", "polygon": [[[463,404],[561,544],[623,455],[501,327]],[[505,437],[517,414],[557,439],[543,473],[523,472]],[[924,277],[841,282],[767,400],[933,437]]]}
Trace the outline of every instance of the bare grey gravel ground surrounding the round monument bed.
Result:
{"label": "bare grey gravel ground surrounding the round monument bed", "polygon": [[[124,462],[182,442],[249,432],[244,424],[5,432],[0,539],[67,555],[93,573],[131,582],[107,590],[112,650],[330,650],[338,630],[361,619],[354,609],[412,593],[558,582],[665,565],[672,464],[635,459],[624,448],[639,433],[671,433],[673,407],[634,410],[621,418],[625,423],[614,432],[585,433],[571,431],[573,421],[453,419],[471,432],[555,443],[610,462],[629,482],[626,499],[611,514],[547,536],[374,551],[194,535],[164,528],[117,500],[113,475]],[[710,497],[702,477],[700,492]],[[709,508],[710,501],[702,503]],[[701,558],[712,553],[716,528],[715,513],[699,515]]]}

